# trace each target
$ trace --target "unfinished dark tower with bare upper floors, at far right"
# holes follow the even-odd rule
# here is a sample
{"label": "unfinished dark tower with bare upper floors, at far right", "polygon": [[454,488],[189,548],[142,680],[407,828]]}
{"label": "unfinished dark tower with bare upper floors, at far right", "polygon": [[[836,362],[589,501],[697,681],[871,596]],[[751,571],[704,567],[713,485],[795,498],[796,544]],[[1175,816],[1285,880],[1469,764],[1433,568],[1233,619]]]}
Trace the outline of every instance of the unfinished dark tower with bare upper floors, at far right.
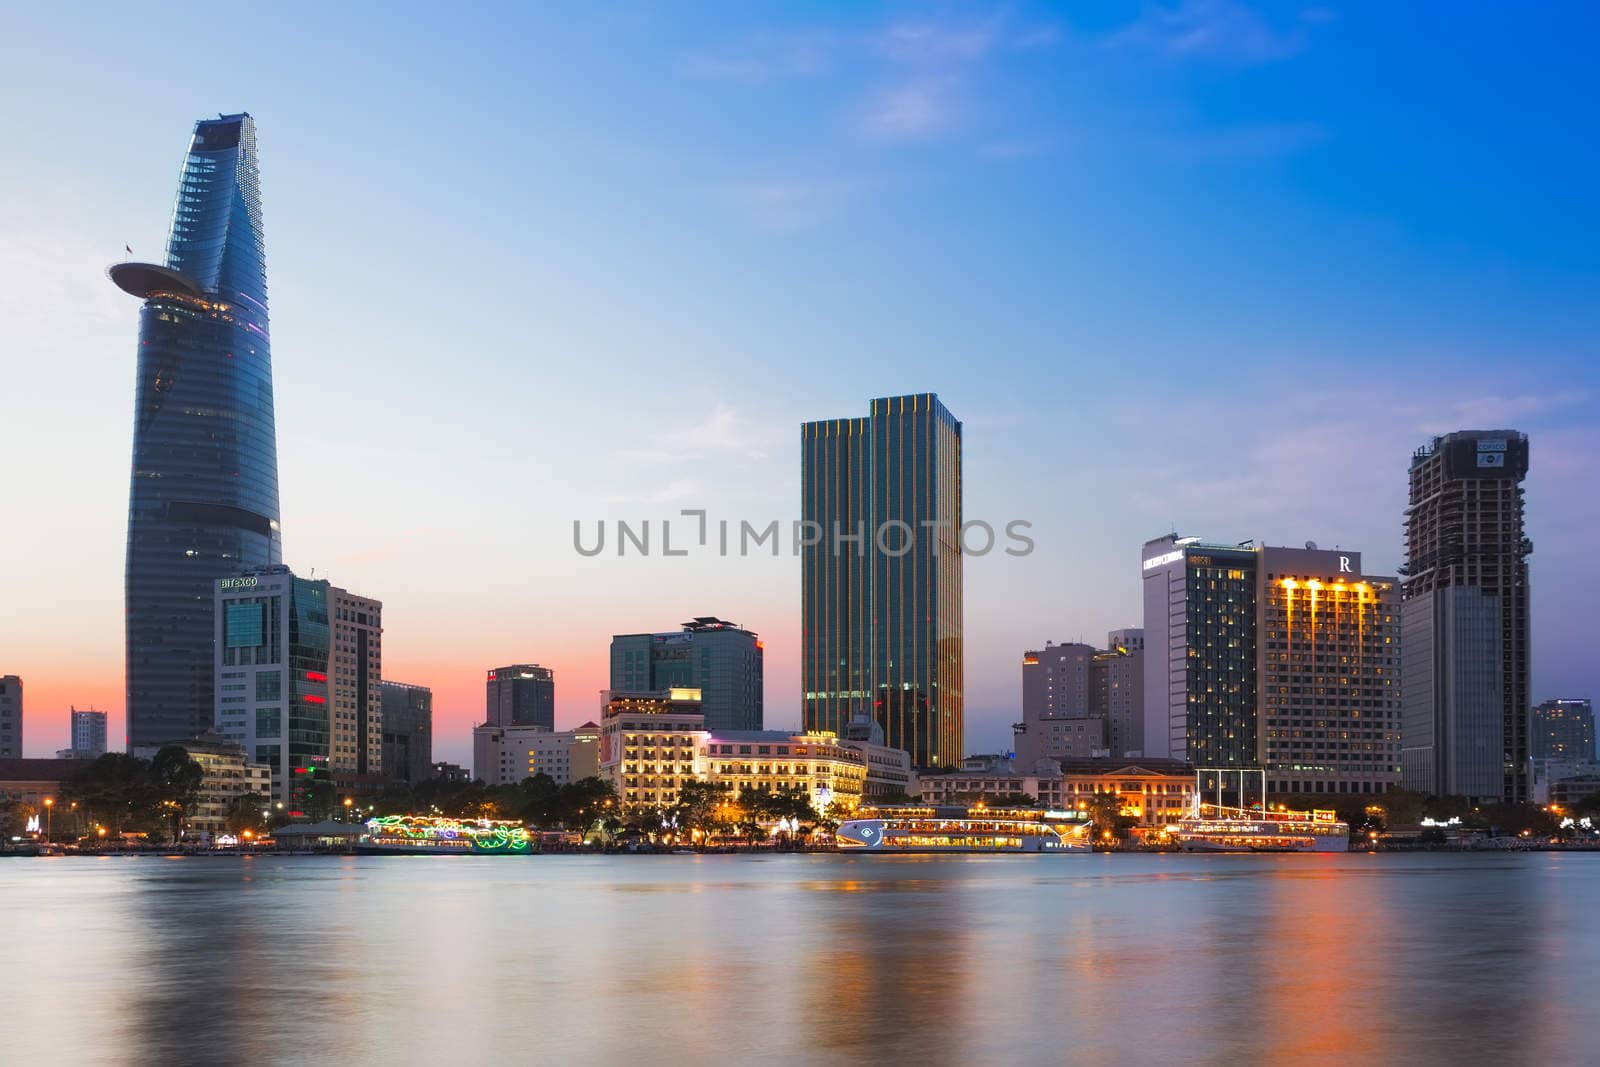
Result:
{"label": "unfinished dark tower with bare upper floors, at far right", "polygon": [[1461,430],[1411,456],[1406,509],[1405,785],[1526,801],[1528,437]]}

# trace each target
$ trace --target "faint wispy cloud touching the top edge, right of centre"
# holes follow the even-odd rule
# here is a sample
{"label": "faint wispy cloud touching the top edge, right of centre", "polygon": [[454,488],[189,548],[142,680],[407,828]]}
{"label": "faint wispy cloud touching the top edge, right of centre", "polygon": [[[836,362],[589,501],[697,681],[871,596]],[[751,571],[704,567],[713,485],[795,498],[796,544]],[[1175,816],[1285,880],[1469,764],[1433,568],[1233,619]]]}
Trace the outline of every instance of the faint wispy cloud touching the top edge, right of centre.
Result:
{"label": "faint wispy cloud touching the top edge, right of centre", "polygon": [[[1318,10],[1320,13],[1320,10]],[[1261,64],[1288,59],[1306,48],[1306,22],[1288,29],[1270,26],[1259,14],[1232,0],[1181,0],[1174,6],[1150,5],[1107,45],[1138,48],[1174,59]]]}

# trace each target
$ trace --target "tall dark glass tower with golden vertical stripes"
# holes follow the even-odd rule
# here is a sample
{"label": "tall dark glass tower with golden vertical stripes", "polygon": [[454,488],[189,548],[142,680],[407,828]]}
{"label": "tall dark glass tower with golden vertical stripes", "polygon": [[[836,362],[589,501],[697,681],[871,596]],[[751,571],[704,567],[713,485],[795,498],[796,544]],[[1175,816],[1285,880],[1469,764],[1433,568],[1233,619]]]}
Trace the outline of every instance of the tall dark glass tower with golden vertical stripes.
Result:
{"label": "tall dark glass tower with golden vertical stripes", "polygon": [[960,766],[962,424],[933,394],[800,427],[806,729],[858,712],[920,768]]}

